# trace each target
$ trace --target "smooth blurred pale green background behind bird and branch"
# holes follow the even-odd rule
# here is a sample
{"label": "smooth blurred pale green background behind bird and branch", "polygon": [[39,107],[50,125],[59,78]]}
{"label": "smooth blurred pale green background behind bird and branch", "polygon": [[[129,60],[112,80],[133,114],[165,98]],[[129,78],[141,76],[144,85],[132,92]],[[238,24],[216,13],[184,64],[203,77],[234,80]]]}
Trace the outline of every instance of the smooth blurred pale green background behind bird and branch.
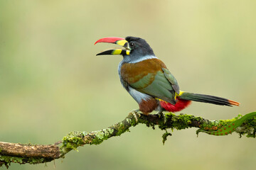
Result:
{"label": "smooth blurred pale green background behind bird and branch", "polygon": [[[121,56],[96,57],[108,36],[139,36],[181,90],[240,107],[193,103],[182,111],[228,119],[255,111],[256,1],[0,1],[0,140],[53,144],[73,130],[100,130],[138,108],[119,83]],[[65,159],[9,169],[255,169],[255,139],[145,125]],[[171,131],[171,130],[170,130]]]}

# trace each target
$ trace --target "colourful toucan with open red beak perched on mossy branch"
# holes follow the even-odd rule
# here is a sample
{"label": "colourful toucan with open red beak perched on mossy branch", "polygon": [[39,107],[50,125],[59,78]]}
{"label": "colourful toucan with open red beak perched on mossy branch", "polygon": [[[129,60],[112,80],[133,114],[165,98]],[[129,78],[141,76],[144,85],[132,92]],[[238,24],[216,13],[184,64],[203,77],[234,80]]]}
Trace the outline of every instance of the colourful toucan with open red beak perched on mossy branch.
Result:
{"label": "colourful toucan with open red beak perched on mossy branch", "polygon": [[220,106],[239,106],[240,103],[226,98],[181,91],[178,82],[159,60],[152,48],[142,38],[101,38],[98,42],[121,45],[123,49],[105,50],[97,55],[122,55],[118,74],[122,86],[139,104],[139,111],[148,115],[152,111],[177,112],[191,101],[212,103]]}

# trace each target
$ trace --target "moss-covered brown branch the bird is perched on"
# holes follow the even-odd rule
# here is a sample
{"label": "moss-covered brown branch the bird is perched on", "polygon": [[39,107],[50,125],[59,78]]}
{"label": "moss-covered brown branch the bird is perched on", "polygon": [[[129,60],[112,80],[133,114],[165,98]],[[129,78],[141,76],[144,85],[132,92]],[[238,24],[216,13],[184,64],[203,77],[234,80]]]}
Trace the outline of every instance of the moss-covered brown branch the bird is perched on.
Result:
{"label": "moss-covered brown branch the bird is perched on", "polygon": [[[250,114],[252,115],[252,113]],[[233,131],[237,132],[240,137],[242,135],[255,137],[255,114],[253,113],[253,117],[247,118]],[[206,120],[193,115],[166,113],[164,118],[164,115],[143,115],[138,112],[132,112],[122,122],[111,125],[109,128],[93,132],[70,132],[67,136],[63,137],[62,141],[56,142],[54,145],[21,145],[0,142],[0,166],[6,165],[8,167],[11,163],[41,164],[51,162],[54,159],[63,158],[72,149],[76,150],[78,147],[88,144],[99,145],[110,137],[122,135],[122,133],[129,131],[129,128],[138,124],[145,124],[147,127],[153,129],[155,126],[158,126],[161,130],[167,130],[169,128],[176,130],[199,128],[203,132],[209,132],[208,130],[217,130],[218,127],[223,127],[223,125],[240,120],[239,118],[241,117],[242,115],[238,115],[238,117],[230,120]],[[163,142],[166,141],[166,137],[169,135],[171,133],[167,131],[164,133]]]}

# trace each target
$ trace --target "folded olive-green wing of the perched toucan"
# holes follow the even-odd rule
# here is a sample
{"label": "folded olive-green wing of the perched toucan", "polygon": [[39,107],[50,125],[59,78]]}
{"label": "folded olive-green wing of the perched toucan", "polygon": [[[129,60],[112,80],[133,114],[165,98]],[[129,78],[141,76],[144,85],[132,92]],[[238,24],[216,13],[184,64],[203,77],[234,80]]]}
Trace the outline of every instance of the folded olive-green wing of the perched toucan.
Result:
{"label": "folded olive-green wing of the perched toucan", "polygon": [[156,74],[146,74],[139,81],[129,84],[129,86],[144,94],[149,94],[172,104],[176,103],[175,92],[179,91],[177,81],[168,69],[162,69]]}

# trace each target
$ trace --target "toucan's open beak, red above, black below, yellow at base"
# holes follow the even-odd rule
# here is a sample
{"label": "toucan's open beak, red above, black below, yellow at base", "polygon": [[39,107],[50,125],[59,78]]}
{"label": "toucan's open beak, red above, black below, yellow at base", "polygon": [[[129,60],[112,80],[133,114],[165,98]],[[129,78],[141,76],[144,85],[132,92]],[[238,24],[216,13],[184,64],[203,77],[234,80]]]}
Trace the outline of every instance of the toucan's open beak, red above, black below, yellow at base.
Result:
{"label": "toucan's open beak, red above, black below, yellow at base", "polygon": [[107,43],[121,45],[125,49],[105,50],[105,51],[100,52],[97,55],[129,55],[129,52],[131,50],[129,48],[129,43],[124,38],[115,38],[115,37],[101,38],[100,40],[97,40],[95,42],[95,44],[97,44],[98,42],[107,42]]}

